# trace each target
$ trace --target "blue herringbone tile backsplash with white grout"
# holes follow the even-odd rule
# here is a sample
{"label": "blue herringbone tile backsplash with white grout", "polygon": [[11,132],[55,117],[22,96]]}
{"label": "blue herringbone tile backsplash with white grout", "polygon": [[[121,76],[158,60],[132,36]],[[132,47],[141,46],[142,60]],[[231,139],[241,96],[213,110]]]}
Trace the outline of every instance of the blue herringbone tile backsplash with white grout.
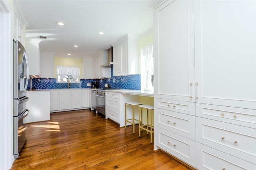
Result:
{"label": "blue herringbone tile backsplash with white grout", "polygon": [[[113,67],[111,67],[111,78],[104,79],[80,79],[80,83],[70,83],[70,88],[91,88],[87,83],[98,82],[100,88],[108,83],[110,88],[121,88],[130,90],[140,90],[140,74],[130,76],[113,76]],[[29,81],[28,89],[31,82]],[[32,87],[36,89],[56,89],[68,88],[68,83],[56,83],[56,78],[32,78]]]}

